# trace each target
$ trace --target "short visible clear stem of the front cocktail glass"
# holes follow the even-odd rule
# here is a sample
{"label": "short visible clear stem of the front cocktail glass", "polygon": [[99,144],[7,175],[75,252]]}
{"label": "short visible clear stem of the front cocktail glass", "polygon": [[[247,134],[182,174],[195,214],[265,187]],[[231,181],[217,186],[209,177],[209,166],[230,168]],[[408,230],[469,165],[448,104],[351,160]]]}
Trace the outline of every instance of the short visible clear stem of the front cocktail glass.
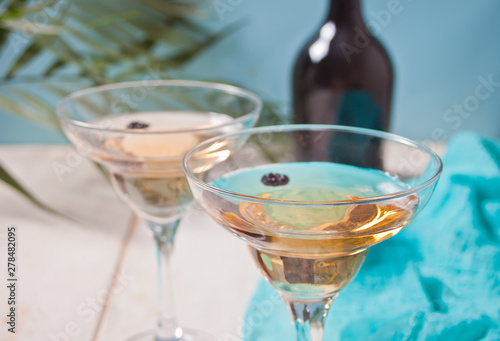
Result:
{"label": "short visible clear stem of the front cocktail glass", "polygon": [[322,341],[325,319],[336,296],[314,301],[282,297],[295,323],[297,341]]}

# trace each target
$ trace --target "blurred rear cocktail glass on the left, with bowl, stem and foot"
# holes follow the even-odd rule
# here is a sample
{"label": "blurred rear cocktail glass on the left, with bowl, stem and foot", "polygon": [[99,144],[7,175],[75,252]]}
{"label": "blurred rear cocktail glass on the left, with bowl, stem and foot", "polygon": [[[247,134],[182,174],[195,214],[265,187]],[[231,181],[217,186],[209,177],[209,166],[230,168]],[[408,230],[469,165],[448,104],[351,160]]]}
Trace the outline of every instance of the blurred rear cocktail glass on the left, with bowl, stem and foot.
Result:
{"label": "blurred rear cocktail glass on the left, with bowl, stem and foot", "polygon": [[192,195],[184,153],[201,141],[252,127],[261,100],[229,85],[137,81],[76,92],[57,107],[61,126],[80,154],[102,166],[118,195],[143,217],[158,253],[158,323],[132,340],[205,340],[177,324],[169,259]]}

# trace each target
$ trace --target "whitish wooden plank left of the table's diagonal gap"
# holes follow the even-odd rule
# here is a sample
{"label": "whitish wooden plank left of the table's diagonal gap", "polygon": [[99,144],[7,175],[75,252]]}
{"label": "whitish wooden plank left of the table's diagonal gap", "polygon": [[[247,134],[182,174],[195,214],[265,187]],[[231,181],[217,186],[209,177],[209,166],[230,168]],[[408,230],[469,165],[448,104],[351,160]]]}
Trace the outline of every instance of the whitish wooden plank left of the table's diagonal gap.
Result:
{"label": "whitish wooden plank left of the table's diagonal gap", "polygon": [[[76,155],[76,156],[75,156]],[[130,218],[95,167],[67,146],[1,146],[0,160],[48,214],[0,184],[1,340],[90,340]],[[63,165],[67,172],[57,173]],[[5,328],[6,228],[17,227],[17,325]]]}

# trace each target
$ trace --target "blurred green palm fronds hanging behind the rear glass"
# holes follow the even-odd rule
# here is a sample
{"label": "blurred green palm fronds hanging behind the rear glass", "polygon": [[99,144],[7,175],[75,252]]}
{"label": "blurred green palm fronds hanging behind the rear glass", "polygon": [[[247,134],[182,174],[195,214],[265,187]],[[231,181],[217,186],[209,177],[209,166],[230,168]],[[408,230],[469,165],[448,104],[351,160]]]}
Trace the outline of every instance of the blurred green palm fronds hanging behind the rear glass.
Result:
{"label": "blurred green palm fronds hanging behind the rear glass", "polygon": [[[63,6],[62,3],[71,6]],[[213,32],[200,20],[208,17],[203,1],[45,0],[29,5],[13,0],[0,13],[0,49],[16,54],[0,74],[0,110],[52,129],[57,101],[79,87],[144,77],[165,78],[154,70],[181,70],[237,30]],[[49,13],[37,23],[36,14]],[[23,29],[31,26],[30,32]],[[25,30],[25,29],[24,29]],[[15,43],[15,44],[14,44]],[[43,67],[38,63],[45,59]],[[70,86],[71,84],[71,86]],[[37,206],[52,209],[20,185],[0,165],[3,181]]]}

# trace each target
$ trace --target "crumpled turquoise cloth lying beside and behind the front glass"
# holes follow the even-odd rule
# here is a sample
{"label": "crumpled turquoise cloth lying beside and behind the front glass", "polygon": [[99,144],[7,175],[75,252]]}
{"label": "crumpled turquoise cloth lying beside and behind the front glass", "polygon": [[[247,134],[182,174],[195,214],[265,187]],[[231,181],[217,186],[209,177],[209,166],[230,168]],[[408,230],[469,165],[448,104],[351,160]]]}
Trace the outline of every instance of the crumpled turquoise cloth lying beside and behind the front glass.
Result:
{"label": "crumpled turquoise cloth lying beside and behind the front glass", "polygon": [[[500,141],[457,134],[443,162],[420,216],[371,248],[334,301],[328,340],[500,340]],[[241,334],[295,340],[284,303],[264,280]]]}

